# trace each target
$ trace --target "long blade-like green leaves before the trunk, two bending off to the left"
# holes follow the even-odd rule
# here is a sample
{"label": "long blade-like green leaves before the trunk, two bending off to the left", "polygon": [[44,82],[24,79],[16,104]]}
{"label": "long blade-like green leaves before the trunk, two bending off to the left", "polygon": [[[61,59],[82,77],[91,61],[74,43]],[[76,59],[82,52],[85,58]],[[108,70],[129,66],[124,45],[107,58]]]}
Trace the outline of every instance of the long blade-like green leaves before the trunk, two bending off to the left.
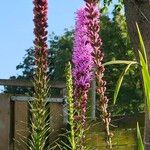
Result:
{"label": "long blade-like green leaves before the trunk, two bending off to the left", "polygon": [[[142,77],[143,77],[143,86],[144,86],[144,93],[146,96],[146,104],[147,104],[147,110],[150,116],[150,74],[148,71],[148,61],[147,61],[147,55],[146,55],[146,51],[145,51],[145,46],[144,46],[144,42],[138,27],[138,24],[136,24],[137,26],[137,31],[138,31],[138,36],[139,36],[139,41],[140,41],[140,50],[139,50],[139,61],[140,61],[140,66],[141,66],[141,72],[142,72]],[[110,65],[110,64],[121,64],[121,63],[128,63],[129,61],[112,61],[112,62],[108,62],[105,63],[104,65]],[[132,64],[136,64],[136,62],[130,62],[127,67],[123,70],[121,76],[119,77],[118,81],[117,81],[117,85],[115,88],[115,92],[114,92],[114,104],[116,103],[116,99],[118,96],[118,92],[120,90],[122,81],[124,79],[124,75],[127,73],[127,71],[129,70],[130,66]]]}

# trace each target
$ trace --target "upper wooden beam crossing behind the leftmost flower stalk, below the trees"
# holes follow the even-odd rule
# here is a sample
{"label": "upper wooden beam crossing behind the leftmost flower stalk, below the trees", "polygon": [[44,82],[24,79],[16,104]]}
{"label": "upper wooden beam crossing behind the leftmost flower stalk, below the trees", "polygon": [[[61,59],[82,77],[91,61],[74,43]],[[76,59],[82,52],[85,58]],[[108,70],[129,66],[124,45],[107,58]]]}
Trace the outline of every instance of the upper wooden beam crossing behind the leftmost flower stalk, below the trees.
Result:
{"label": "upper wooden beam crossing behind the leftmost flower stalk, below the trees", "polygon": [[[19,79],[0,79],[0,85],[3,86],[18,86],[18,87],[33,87],[32,81],[19,80]],[[63,82],[51,82],[52,88],[65,88],[66,85]]]}

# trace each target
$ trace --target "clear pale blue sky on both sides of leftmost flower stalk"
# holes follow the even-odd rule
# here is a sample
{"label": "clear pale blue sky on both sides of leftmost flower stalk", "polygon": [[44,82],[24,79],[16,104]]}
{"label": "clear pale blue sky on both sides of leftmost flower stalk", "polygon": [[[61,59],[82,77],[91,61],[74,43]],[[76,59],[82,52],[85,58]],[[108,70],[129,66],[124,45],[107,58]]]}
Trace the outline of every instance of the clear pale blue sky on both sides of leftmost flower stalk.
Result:
{"label": "clear pale blue sky on both sides of leftmost flower stalk", "polygon": [[[74,12],[83,0],[49,0],[49,28],[60,35],[64,28],[74,25]],[[0,16],[0,78],[17,75],[25,49],[33,46],[32,0],[2,1]]]}

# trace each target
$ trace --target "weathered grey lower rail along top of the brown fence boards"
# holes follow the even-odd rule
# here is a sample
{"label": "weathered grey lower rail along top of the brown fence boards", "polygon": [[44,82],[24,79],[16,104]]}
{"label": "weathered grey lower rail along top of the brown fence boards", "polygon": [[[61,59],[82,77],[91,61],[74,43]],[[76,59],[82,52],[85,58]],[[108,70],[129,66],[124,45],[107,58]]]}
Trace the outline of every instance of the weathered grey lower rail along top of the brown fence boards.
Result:
{"label": "weathered grey lower rail along top of the brown fence boards", "polygon": [[[12,101],[22,101],[22,102],[27,102],[27,101],[33,101],[33,97],[29,96],[11,96]],[[51,103],[63,103],[65,98],[47,98],[47,102]]]}

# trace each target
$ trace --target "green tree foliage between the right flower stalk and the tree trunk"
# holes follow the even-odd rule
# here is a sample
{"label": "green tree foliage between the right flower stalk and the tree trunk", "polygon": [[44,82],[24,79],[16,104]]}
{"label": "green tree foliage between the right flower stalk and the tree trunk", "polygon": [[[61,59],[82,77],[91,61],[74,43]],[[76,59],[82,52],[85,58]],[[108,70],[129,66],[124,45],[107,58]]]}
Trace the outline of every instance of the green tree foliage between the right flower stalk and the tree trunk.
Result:
{"label": "green tree foliage between the right flower stalk and the tree trunk", "polygon": [[[113,20],[109,20],[108,17],[102,17],[101,37],[103,40],[102,50],[105,53],[104,62],[110,60],[134,60],[134,53],[123,15],[114,13]],[[108,65],[106,67],[105,79],[107,81],[110,103],[113,102],[111,98],[113,97],[118,77],[123,69],[123,65]],[[141,85],[139,68],[130,68],[121,86],[117,104],[112,107],[110,105],[113,115],[133,114],[143,110]]]}

